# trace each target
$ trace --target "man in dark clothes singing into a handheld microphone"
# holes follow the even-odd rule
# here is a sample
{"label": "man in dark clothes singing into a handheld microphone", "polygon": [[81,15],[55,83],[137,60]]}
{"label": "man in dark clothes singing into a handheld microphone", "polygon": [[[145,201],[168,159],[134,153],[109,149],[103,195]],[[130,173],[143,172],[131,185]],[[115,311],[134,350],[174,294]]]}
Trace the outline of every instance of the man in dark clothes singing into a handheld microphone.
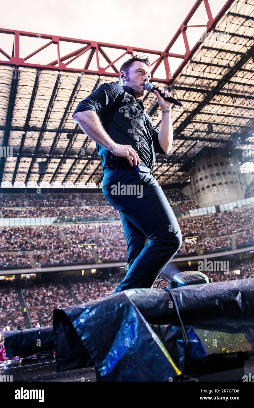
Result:
{"label": "man in dark clothes singing into a handheld microphone", "polygon": [[[127,271],[114,293],[150,288],[182,244],[177,219],[151,174],[155,153],[167,154],[171,149],[173,129],[172,104],[157,91],[160,130],[152,124],[142,101],[137,99],[144,96],[144,85],[151,78],[149,68],[148,57],[135,55],[120,68],[122,85],[102,84],[82,100],[73,113],[81,129],[96,142],[104,172],[102,191],[119,211],[124,227]],[[165,96],[170,93],[165,91]],[[115,186],[120,186],[118,193]],[[135,190],[134,186],[139,188]]]}

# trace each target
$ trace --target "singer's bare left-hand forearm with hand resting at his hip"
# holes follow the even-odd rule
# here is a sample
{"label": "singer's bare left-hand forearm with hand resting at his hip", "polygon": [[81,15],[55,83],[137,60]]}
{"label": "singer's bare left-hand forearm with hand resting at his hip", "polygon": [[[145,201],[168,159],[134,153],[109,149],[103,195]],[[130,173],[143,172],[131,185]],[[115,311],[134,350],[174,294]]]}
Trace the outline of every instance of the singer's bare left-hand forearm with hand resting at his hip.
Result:
{"label": "singer's bare left-hand forearm with hand resting at his hip", "polygon": [[140,163],[139,156],[132,146],[129,144],[118,144],[111,139],[103,129],[99,117],[94,111],[76,112],[73,114],[73,119],[94,142],[99,143],[116,156],[125,157],[131,166],[133,166],[133,162],[135,165]]}

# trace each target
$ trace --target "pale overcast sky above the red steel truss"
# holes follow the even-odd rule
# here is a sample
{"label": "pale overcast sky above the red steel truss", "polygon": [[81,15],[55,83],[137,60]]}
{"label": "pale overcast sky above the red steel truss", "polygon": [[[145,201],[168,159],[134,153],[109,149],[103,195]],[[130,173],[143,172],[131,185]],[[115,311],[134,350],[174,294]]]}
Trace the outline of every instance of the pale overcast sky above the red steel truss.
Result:
{"label": "pale overcast sky above the red steel truss", "polygon": [[[12,0],[11,7],[9,2],[1,5],[0,28],[163,51],[194,3],[195,0]],[[209,3],[215,16],[225,0]],[[192,24],[204,24],[204,11],[202,4]],[[200,38],[205,31],[190,30],[190,42],[192,37],[197,42],[197,33],[200,32]],[[5,37],[0,34],[1,48],[6,44]],[[10,45],[6,47],[9,51]],[[182,41],[172,50],[183,51]]]}

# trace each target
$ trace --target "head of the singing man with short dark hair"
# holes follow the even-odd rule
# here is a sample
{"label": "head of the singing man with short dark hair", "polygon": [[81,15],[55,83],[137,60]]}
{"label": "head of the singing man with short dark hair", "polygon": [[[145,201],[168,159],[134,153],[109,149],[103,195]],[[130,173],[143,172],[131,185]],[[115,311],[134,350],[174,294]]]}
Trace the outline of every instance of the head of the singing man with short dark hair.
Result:
{"label": "head of the singing man with short dark hair", "polygon": [[144,85],[150,81],[151,74],[149,67],[140,61],[135,61],[131,64],[128,73],[121,71],[120,76],[123,76],[123,85],[130,86],[135,91],[136,98],[144,96]]}

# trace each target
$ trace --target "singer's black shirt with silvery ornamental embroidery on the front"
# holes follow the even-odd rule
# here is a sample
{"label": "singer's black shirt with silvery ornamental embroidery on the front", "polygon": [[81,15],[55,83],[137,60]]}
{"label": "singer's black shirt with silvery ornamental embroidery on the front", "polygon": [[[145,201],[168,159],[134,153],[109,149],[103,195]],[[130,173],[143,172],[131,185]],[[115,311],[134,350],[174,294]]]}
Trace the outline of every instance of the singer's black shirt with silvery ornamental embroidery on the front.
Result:
{"label": "singer's black shirt with silvery ornamental embroidery on the front", "polygon": [[[102,84],[77,105],[73,115],[82,111],[97,113],[114,142],[130,144],[137,151],[141,166],[152,170],[155,153],[166,154],[159,144],[159,129],[144,112],[143,102],[136,99],[132,88],[116,82]],[[102,159],[103,170],[111,164],[128,162],[125,157],[115,156],[99,143],[96,143],[96,149]]]}

